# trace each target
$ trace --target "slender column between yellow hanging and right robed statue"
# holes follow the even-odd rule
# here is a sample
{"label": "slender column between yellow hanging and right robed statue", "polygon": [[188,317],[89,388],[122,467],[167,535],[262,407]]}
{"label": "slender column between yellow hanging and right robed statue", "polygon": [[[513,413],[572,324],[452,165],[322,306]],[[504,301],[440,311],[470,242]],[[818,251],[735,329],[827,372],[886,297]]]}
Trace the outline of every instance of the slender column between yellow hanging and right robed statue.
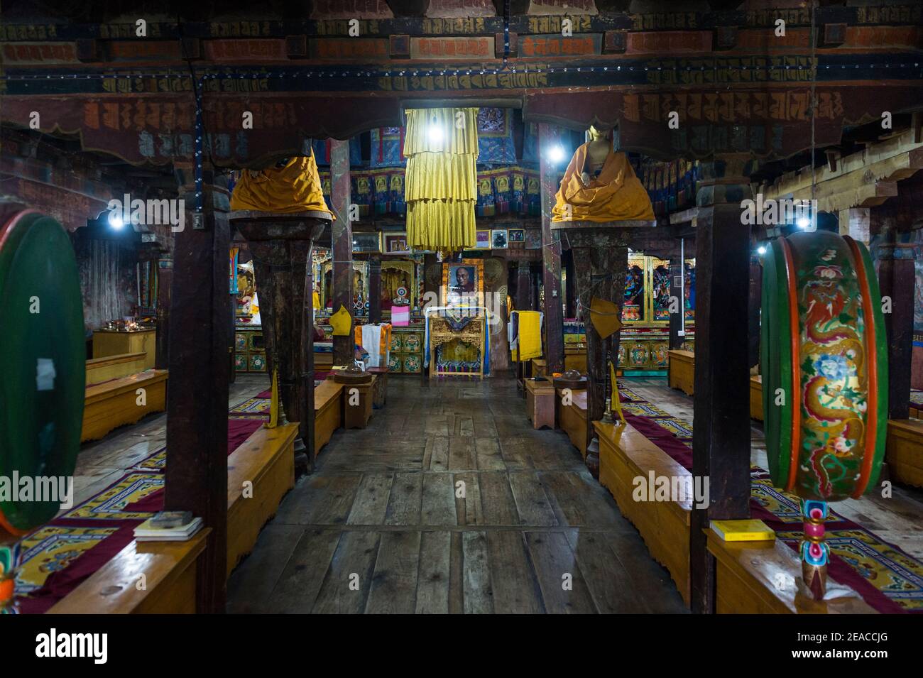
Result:
{"label": "slender column between yellow hanging and right robed statue", "polygon": [[558,168],[548,149],[558,143],[558,129],[539,123],[539,172],[542,191],[542,280],[545,287],[545,365],[548,374],[564,371],[564,313],[561,299],[561,239],[551,230],[551,209],[559,187]]}

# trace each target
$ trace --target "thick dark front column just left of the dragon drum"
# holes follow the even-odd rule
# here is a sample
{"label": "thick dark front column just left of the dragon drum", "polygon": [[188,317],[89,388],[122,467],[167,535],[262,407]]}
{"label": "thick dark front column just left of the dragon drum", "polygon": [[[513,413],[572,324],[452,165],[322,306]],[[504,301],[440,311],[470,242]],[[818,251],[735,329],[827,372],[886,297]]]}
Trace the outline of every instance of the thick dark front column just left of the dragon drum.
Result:
{"label": "thick dark front column just left of the dragon drum", "polygon": [[704,530],[713,519],[749,518],[750,429],[747,362],[750,197],[744,161],[702,166],[696,229],[696,342],[692,475],[709,479],[707,507],[693,505],[689,529],[691,608],[712,613],[714,558]]}

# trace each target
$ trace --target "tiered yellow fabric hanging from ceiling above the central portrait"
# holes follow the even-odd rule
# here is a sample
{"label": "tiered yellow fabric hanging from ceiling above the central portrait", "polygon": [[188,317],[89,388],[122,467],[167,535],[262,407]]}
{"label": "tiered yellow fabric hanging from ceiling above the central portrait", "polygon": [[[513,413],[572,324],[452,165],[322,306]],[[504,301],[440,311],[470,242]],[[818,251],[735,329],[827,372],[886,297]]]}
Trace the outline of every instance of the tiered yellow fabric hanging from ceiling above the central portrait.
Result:
{"label": "tiered yellow fabric hanging from ceiling above the central portrait", "polygon": [[[407,244],[426,250],[474,246],[477,109],[407,111]],[[433,130],[438,130],[433,134]]]}

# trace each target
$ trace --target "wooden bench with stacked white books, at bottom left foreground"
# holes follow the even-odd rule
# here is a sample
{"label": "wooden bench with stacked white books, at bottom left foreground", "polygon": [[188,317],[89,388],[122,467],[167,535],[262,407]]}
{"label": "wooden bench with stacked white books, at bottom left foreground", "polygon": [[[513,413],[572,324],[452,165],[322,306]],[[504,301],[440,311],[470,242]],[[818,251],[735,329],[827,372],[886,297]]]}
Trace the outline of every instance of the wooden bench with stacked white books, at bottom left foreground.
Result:
{"label": "wooden bench with stacked white books, at bottom left foreground", "polygon": [[198,555],[210,532],[189,541],[131,541],[48,614],[195,613]]}

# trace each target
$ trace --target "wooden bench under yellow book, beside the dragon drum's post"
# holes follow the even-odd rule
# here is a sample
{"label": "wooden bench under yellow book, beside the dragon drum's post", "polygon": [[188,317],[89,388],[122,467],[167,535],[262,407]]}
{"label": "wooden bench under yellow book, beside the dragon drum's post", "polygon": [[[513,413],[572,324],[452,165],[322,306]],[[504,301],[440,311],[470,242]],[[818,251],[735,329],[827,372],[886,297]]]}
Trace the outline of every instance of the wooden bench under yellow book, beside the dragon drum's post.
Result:
{"label": "wooden bench under yellow book, beside the dragon drum's post", "polygon": [[[829,601],[805,596],[801,561],[781,541],[724,541],[705,531],[716,561],[719,614],[876,614],[853,590]],[[828,581],[828,589],[834,585]]]}

